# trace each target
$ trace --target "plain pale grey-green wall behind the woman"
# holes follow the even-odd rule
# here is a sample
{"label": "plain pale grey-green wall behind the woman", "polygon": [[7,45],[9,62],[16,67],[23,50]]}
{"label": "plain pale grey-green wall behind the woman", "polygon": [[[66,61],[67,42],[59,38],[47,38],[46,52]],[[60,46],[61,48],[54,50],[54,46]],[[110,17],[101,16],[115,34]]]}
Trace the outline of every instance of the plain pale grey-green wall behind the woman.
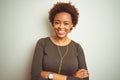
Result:
{"label": "plain pale grey-green wall behind the woman", "polygon": [[0,80],[30,80],[36,42],[53,34],[48,11],[57,1],[80,12],[69,37],[84,49],[90,80],[120,80],[120,0],[0,0]]}

